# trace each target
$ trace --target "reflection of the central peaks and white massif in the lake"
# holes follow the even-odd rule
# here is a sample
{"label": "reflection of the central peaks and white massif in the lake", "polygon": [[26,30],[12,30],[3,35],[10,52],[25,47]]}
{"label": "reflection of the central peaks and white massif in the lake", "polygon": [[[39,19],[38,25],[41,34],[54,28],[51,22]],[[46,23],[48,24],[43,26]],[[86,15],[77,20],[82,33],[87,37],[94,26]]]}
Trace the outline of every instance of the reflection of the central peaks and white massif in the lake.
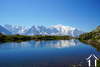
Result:
{"label": "reflection of the central peaks and white massif in the lake", "polygon": [[65,48],[76,46],[80,42],[78,40],[58,40],[58,41],[29,41],[29,43],[35,45],[35,47],[51,47],[51,48]]}

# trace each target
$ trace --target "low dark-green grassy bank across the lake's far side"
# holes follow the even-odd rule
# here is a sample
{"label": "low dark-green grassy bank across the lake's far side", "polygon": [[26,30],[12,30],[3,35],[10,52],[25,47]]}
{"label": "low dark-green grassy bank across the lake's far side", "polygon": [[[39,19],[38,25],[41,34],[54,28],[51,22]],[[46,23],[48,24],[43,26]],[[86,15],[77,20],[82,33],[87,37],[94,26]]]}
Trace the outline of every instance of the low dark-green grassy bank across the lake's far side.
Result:
{"label": "low dark-green grassy bank across the lake's far side", "polygon": [[73,39],[71,36],[55,36],[55,35],[36,35],[36,36],[25,36],[25,35],[4,35],[0,33],[0,42],[21,42],[27,40],[69,40]]}

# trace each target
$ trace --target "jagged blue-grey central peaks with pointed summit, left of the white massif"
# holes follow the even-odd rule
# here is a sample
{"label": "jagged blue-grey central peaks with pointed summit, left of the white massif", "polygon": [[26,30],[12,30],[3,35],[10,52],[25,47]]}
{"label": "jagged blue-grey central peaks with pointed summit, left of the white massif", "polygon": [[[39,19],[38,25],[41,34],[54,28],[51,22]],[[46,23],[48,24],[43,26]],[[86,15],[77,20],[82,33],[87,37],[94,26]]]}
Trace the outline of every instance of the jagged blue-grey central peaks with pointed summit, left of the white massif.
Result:
{"label": "jagged blue-grey central peaks with pointed summit, left of the white massif", "polygon": [[56,28],[44,26],[32,26],[24,35],[59,35],[60,32]]}

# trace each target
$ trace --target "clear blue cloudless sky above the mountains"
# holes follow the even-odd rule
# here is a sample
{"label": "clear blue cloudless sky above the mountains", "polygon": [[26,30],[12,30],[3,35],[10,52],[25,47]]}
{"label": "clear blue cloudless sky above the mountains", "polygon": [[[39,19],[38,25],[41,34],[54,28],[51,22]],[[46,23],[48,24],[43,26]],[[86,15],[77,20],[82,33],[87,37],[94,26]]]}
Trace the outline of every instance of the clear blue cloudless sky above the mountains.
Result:
{"label": "clear blue cloudless sky above the mountains", "polygon": [[100,25],[100,0],[0,0],[0,25],[62,24],[90,32]]}

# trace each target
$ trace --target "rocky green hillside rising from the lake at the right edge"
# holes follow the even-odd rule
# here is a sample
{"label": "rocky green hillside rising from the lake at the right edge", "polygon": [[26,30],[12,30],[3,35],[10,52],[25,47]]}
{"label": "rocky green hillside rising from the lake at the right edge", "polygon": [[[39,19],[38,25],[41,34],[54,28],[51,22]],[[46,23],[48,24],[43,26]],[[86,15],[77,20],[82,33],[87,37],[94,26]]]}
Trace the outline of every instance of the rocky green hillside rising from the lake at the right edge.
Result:
{"label": "rocky green hillside rising from the lake at the right edge", "polygon": [[77,39],[83,43],[90,44],[100,52],[100,26],[96,30],[80,35]]}

